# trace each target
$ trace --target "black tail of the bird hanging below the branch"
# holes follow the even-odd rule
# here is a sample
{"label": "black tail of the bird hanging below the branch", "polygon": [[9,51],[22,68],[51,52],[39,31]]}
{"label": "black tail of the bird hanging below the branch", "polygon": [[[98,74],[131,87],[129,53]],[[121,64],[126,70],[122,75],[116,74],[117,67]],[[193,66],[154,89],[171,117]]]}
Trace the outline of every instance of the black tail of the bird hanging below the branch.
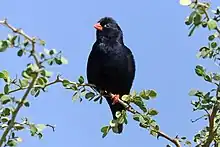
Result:
{"label": "black tail of the bird hanging below the branch", "polygon": [[[113,119],[117,119],[116,112],[117,111],[121,112],[122,110],[125,110],[124,106],[121,105],[120,103],[112,104],[113,100],[111,99],[110,96],[106,97],[106,100],[107,100],[109,107],[111,109]],[[114,130],[114,132],[120,134],[122,132],[122,130],[123,130],[123,124],[117,124],[117,129]]]}

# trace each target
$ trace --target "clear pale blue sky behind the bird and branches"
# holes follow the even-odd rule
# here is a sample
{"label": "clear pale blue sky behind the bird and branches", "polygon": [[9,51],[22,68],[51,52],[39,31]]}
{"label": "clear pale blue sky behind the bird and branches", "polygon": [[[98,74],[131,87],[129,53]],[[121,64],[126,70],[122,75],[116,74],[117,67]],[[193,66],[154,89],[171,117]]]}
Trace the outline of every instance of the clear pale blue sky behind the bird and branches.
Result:
{"label": "clear pale blue sky behind the bird and branches", "polygon": [[[0,19],[6,17],[12,25],[46,40],[47,48],[62,50],[69,64],[51,70],[76,80],[86,73],[87,57],[95,41],[93,24],[103,16],[112,16],[120,24],[124,42],[136,59],[133,89],[155,89],[158,97],[148,106],[160,112],[156,120],[161,130],[173,137],[192,139],[204,122],[190,122],[200,115],[192,112],[193,97],[189,97],[188,92],[191,88],[208,90],[212,87],[195,75],[194,67],[204,64],[214,68],[212,62],[195,56],[200,46],[207,45],[208,31],[197,30],[189,38],[188,27],[184,25],[189,12],[178,0],[4,0]],[[8,30],[0,27],[0,32],[0,39],[5,39]],[[1,53],[0,58],[0,70],[7,69],[13,76],[19,74],[28,61],[17,57],[15,50]],[[22,109],[19,116],[27,116],[35,123],[55,124],[56,131],[45,130],[42,140],[30,137],[26,131],[22,133],[21,147],[159,147],[168,143],[150,136],[131,117],[122,135],[110,133],[102,139],[100,128],[111,119],[107,104],[87,100],[73,103],[73,93],[61,87],[53,86],[37,99],[30,97],[31,107]]]}

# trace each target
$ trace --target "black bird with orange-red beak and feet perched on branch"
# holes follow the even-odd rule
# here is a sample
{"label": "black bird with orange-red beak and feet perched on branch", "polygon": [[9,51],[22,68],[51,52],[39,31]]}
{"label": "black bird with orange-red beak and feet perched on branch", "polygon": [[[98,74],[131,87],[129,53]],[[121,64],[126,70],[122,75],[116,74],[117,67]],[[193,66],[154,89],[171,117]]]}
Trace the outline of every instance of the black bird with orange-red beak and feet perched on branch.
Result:
{"label": "black bird with orange-red beak and feet perched on branch", "polygon": [[[101,18],[95,25],[96,42],[93,44],[87,63],[87,79],[96,85],[99,92],[113,94],[106,97],[113,118],[125,108],[117,103],[124,94],[129,94],[135,77],[135,61],[131,50],[124,45],[123,33],[111,17]],[[121,133],[123,125],[118,124]]]}

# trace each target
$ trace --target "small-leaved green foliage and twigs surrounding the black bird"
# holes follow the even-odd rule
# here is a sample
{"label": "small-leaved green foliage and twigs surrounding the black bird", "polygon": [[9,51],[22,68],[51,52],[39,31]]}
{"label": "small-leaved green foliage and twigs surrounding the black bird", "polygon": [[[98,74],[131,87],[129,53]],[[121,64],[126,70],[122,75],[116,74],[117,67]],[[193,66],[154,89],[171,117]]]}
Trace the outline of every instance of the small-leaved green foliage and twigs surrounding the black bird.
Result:
{"label": "small-leaved green foliage and twigs surrounding the black bird", "polygon": [[[180,0],[180,4],[189,6],[192,9],[191,14],[186,18],[185,24],[189,26],[189,36],[192,36],[198,28],[208,28],[208,44],[199,49],[198,58],[212,60],[215,65],[219,66],[219,37],[220,29],[220,8],[210,11],[210,4],[206,2]],[[212,15],[211,15],[212,14]],[[11,77],[6,69],[0,70],[0,79],[4,82],[2,91],[0,91],[0,147],[17,146],[22,142],[18,136],[18,131],[28,130],[31,136],[43,137],[43,130],[46,128],[55,129],[50,124],[35,124],[25,116],[19,120],[17,115],[23,107],[31,107],[30,97],[39,97],[42,92],[46,92],[52,85],[61,83],[63,88],[73,93],[72,100],[87,99],[89,101],[102,103],[103,96],[112,95],[108,92],[98,93],[95,91],[95,85],[85,83],[84,77],[79,76],[78,80],[61,78],[59,74],[48,71],[49,66],[62,66],[68,64],[68,60],[62,55],[61,51],[56,49],[47,49],[46,42],[37,37],[30,37],[23,30],[11,26],[7,20],[0,21],[0,25],[12,31],[5,40],[0,40],[0,52],[3,54],[8,49],[16,50],[18,57],[29,57],[30,61],[26,64],[24,70],[17,77]],[[31,57],[31,58],[30,58]],[[200,130],[194,136],[195,146],[208,147],[211,145],[219,146],[220,144],[220,73],[208,72],[202,65],[197,65],[195,73],[204,81],[216,86],[208,92],[199,89],[193,89],[189,92],[190,96],[196,99],[191,102],[193,111],[202,111],[204,115],[193,122],[204,119],[207,126]],[[23,96],[18,97],[17,92],[22,92]],[[152,136],[157,138],[163,137],[173,143],[175,146],[181,145],[192,146],[192,142],[185,136],[176,136],[174,138],[161,131],[156,123],[154,116],[159,112],[154,108],[148,108],[147,102],[156,98],[155,90],[142,90],[141,92],[132,92],[124,95],[119,100],[126,111],[117,112],[117,119],[111,120],[108,125],[101,128],[102,137],[112,130],[117,132],[118,124],[127,124],[127,112],[133,115],[133,119],[138,122],[141,128],[149,131]],[[137,108],[137,109],[134,109]],[[167,145],[171,146],[171,145]]]}

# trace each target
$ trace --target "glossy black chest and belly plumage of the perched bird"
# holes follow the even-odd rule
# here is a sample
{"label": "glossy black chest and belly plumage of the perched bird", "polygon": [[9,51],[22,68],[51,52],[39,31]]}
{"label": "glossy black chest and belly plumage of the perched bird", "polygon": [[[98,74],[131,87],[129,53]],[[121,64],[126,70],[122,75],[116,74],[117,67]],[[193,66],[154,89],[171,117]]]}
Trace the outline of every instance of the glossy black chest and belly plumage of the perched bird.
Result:
{"label": "glossy black chest and belly plumage of the perched bird", "polygon": [[[114,93],[129,92],[128,59],[126,48],[121,45],[98,44],[90,54],[93,74],[88,74],[90,82],[100,89]],[[123,89],[124,88],[124,89]]]}

